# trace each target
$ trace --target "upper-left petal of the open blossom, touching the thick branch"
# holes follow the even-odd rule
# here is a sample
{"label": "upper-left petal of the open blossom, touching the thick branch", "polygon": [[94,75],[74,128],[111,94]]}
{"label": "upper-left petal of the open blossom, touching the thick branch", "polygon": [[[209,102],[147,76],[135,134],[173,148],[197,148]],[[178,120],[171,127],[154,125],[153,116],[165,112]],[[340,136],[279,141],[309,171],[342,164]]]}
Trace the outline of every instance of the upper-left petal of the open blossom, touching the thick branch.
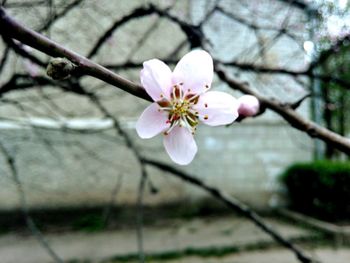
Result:
{"label": "upper-left petal of the open blossom, touching the thick branch", "polygon": [[154,101],[161,100],[162,96],[170,97],[171,78],[171,70],[163,61],[151,59],[143,62],[141,84]]}

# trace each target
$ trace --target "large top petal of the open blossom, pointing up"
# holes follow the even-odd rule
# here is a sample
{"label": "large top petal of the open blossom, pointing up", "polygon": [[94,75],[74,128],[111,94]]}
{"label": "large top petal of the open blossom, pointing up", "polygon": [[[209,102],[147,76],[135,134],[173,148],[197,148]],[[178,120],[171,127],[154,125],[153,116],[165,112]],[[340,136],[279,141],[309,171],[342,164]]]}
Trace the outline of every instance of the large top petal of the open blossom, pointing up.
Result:
{"label": "large top petal of the open blossom, pointing up", "polygon": [[210,88],[213,81],[213,59],[204,50],[187,53],[176,65],[173,72],[173,84],[183,83],[184,91],[202,93]]}

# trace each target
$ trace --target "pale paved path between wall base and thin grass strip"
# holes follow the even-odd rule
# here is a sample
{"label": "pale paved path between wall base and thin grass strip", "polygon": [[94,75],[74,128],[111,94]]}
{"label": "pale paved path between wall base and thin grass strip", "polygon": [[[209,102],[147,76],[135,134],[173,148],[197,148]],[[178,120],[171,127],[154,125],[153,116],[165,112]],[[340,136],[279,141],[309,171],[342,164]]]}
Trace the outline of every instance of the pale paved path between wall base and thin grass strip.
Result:
{"label": "pale paved path between wall base and thin grass strip", "polygon": [[[298,239],[314,235],[314,233],[294,225],[288,225],[272,219],[268,219],[267,221],[282,233],[283,236],[288,238]],[[135,229],[98,233],[49,234],[46,237],[53,249],[65,260],[98,261],[114,256],[137,253]],[[269,236],[257,229],[256,226],[241,218],[211,218],[190,221],[174,220],[163,226],[145,227],[144,240],[145,250],[148,253],[178,252],[188,248],[241,247],[272,241]],[[289,259],[293,260],[293,255],[289,252],[284,254],[289,255]],[[230,261],[230,259],[225,261],[225,258],[222,258],[223,261],[191,259],[193,262],[295,262],[288,260],[272,261],[274,253],[270,255],[272,258],[267,258],[266,260],[263,257],[261,261],[249,259],[250,257],[258,259],[260,258],[259,255],[261,255],[260,252],[249,252],[242,256],[242,260],[237,261]],[[234,257],[236,256],[240,257],[240,255],[235,255]],[[0,259],[1,263],[51,262],[50,257],[35,238],[14,234],[0,236]],[[179,259],[173,262],[185,261]],[[332,263],[335,262],[332,261]]]}

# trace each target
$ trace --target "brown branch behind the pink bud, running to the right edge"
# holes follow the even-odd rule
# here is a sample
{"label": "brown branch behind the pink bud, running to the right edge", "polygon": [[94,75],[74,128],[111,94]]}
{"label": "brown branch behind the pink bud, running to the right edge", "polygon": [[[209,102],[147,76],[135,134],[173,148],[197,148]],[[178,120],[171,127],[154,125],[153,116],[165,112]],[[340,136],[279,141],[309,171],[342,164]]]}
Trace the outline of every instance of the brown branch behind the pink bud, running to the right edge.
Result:
{"label": "brown branch behind the pink bud, running to the right edge", "polygon": [[294,128],[307,133],[312,138],[318,138],[337,148],[338,150],[350,155],[350,140],[346,137],[332,132],[315,122],[309,121],[298,114],[292,106],[283,104],[275,99],[267,99],[257,92],[254,92],[246,83],[238,82],[227,76],[225,71],[216,69],[219,78],[227,83],[231,88],[239,90],[245,94],[251,94],[257,97],[264,108],[270,109],[283,117]]}

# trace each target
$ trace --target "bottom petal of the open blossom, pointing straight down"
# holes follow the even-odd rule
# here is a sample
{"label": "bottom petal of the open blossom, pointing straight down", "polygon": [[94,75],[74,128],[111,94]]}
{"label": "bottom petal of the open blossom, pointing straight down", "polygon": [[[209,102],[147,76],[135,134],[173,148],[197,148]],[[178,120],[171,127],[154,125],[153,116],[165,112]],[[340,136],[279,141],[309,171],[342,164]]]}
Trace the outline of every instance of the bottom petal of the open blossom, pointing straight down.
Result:
{"label": "bottom petal of the open blossom, pointing straight down", "polygon": [[197,153],[197,144],[192,133],[185,127],[176,126],[164,136],[164,147],[170,158],[177,164],[187,165]]}

